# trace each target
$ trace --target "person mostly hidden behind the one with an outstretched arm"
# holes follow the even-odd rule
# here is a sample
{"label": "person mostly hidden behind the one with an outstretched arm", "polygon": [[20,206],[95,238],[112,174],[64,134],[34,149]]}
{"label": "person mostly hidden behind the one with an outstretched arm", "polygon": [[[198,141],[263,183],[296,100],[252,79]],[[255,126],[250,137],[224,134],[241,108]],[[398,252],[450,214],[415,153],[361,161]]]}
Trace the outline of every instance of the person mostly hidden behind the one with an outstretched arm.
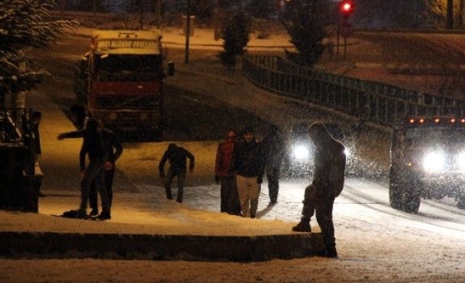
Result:
{"label": "person mostly hidden behind the one with an outstretched arm", "polygon": [[[113,132],[111,129],[106,129],[103,126],[103,122],[99,120],[99,125],[101,127],[101,137],[103,140],[103,146],[105,146],[106,152],[106,162],[104,170],[104,180],[105,180],[105,189],[108,195],[108,205],[111,209],[111,204],[113,203],[113,178],[115,176],[115,162],[123,154],[123,144],[121,144],[118,135]],[[97,198],[97,189],[95,180],[91,183],[89,191],[89,202],[91,207],[91,216],[99,214],[99,202]]]}

